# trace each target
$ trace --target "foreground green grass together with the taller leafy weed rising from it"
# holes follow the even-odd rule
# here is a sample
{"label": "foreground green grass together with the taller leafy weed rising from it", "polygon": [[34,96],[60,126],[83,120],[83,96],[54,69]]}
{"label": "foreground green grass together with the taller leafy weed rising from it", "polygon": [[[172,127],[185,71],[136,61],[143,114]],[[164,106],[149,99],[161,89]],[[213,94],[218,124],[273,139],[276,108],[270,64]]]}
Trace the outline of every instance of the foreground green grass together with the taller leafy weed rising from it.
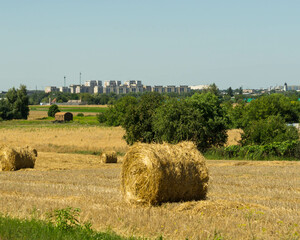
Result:
{"label": "foreground green grass together with the taller leafy weed rising from it", "polygon": [[67,207],[49,213],[48,221],[35,218],[20,220],[0,214],[0,239],[9,240],[123,240],[112,231],[96,232],[91,223],[80,223],[79,208]]}

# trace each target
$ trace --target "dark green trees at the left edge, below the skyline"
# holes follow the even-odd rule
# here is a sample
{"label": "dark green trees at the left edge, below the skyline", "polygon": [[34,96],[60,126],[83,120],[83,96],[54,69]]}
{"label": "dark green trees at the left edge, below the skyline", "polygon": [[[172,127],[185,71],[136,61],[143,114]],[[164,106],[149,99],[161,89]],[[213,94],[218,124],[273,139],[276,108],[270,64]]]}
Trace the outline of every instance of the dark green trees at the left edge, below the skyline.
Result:
{"label": "dark green trees at the left edge, below the skyline", "polygon": [[9,89],[6,98],[0,100],[0,119],[27,119],[29,115],[27,90],[24,85],[19,89]]}

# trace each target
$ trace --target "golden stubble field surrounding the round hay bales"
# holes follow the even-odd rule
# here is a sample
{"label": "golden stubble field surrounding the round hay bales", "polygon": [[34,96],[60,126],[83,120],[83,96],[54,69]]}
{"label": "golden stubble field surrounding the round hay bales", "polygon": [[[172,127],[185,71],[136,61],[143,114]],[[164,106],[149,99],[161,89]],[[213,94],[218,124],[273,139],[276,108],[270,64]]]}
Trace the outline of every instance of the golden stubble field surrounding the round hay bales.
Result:
{"label": "golden stubble field surrounding the round hay bales", "polygon": [[[31,117],[37,112],[43,111],[31,111]],[[26,127],[22,121],[0,123],[1,144],[38,150],[34,169],[0,172],[1,213],[44,219],[47,212],[72,206],[80,208],[81,220],[90,220],[95,229],[124,236],[300,237],[299,162],[208,160],[207,200],[132,206],[120,191],[122,155],[128,149],[122,128],[38,121]],[[97,153],[103,150],[119,152],[119,162],[101,164]]]}

